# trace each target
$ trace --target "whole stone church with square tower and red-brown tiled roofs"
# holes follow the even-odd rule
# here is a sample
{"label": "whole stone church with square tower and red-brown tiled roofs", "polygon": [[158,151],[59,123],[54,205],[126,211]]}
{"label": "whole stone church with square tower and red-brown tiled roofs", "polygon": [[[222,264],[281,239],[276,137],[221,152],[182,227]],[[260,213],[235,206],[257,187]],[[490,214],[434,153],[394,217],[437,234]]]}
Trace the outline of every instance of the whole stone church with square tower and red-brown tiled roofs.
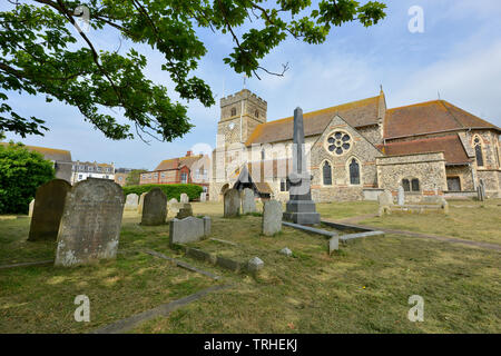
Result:
{"label": "whole stone church with square tower and red-brown tiled roofs", "polygon": [[[220,99],[212,200],[232,187],[288,200],[293,117],[268,121],[266,111],[247,89]],[[399,186],[407,201],[475,196],[479,184],[501,197],[501,129],[445,100],[389,109],[381,90],[305,112],[304,132],[315,201],[376,199]]]}

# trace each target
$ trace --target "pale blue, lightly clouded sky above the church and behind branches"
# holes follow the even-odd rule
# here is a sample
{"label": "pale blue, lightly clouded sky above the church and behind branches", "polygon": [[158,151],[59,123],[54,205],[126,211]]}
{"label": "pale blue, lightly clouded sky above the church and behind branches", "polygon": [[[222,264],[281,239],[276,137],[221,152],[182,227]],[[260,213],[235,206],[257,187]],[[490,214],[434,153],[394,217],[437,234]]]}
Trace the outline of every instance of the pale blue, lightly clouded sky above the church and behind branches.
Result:
{"label": "pale blue, lightly clouded sky above the church and behind branches", "polygon": [[[305,112],[379,93],[380,85],[389,108],[442,99],[501,127],[501,3],[499,0],[393,0],[380,24],[357,23],[334,28],[323,44],[311,46],[288,39],[263,63],[279,70],[288,62],[285,77],[262,73],[247,79],[246,87],[268,103],[268,120],[292,116],[299,106]],[[365,1],[362,1],[365,2]],[[412,6],[424,11],[424,32],[411,33],[407,13]],[[0,10],[6,4],[0,6]],[[88,33],[99,49],[118,47],[112,31]],[[60,102],[47,103],[45,96],[11,95],[9,103],[26,116],[38,115],[50,131],[45,137],[8,139],[26,145],[68,149],[73,160],[115,162],[116,167],[155,168],[159,161],[215,146],[219,99],[243,88],[242,75],[223,63],[233,43],[229,36],[200,30],[208,53],[196,75],[206,80],[216,105],[205,108],[186,103],[195,128],[173,142],[140,139],[107,139],[77,109]],[[124,50],[127,46],[124,46]],[[161,56],[141,47],[148,58],[148,77],[173,88],[160,70]],[[170,91],[177,98],[174,90]]]}

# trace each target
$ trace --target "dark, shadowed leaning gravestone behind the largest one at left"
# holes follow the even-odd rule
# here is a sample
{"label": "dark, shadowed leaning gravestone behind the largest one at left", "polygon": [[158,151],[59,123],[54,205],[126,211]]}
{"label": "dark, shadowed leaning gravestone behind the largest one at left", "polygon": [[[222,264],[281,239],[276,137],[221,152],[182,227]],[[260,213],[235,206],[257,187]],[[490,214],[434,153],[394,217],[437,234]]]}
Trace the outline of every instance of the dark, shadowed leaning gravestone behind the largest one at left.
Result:
{"label": "dark, shadowed leaning gravestone behind the largest one at left", "polygon": [[52,179],[38,187],[28,240],[56,240],[65,198],[70,189],[71,185],[63,179]]}

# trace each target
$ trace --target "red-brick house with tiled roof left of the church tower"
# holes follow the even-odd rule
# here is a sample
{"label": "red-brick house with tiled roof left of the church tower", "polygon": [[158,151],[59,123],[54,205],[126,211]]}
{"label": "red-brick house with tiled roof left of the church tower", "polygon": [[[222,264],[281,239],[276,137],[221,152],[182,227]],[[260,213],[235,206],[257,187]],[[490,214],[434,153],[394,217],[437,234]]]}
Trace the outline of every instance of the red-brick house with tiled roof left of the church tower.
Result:
{"label": "red-brick house with tiled roof left of the church tower", "polygon": [[210,159],[207,155],[193,155],[163,160],[153,171],[141,174],[139,185],[195,184],[204,191],[209,186]]}

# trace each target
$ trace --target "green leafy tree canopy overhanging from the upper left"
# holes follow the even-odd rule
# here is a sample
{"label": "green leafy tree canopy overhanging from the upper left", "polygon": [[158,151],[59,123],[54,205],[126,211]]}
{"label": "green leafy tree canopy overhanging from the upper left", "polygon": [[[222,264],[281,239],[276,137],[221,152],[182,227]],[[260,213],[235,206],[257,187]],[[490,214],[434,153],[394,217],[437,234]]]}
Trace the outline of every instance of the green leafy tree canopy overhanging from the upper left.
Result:
{"label": "green leafy tree canopy overhanging from the upper left", "polygon": [[[37,117],[22,117],[7,103],[9,91],[46,95],[78,108],[85,120],[110,139],[135,135],[170,141],[193,127],[186,107],[171,100],[168,88],[145,76],[147,59],[136,44],[164,57],[161,69],[181,99],[215,103],[210,88],[190,72],[207,52],[196,30],[230,36],[235,47],[224,59],[237,73],[259,78],[259,66],[287,37],[307,43],[325,41],[332,27],[358,21],[369,27],[385,17],[385,4],[354,0],[9,0],[0,12],[0,130],[43,135]],[[88,11],[87,11],[88,10]],[[127,53],[99,50],[78,27],[88,16],[90,31],[117,32],[132,47]],[[81,22],[80,22],[81,23]],[[248,30],[244,30],[247,28]],[[77,31],[77,26],[80,31]],[[243,32],[237,34],[237,30]],[[92,33],[94,34],[94,33]],[[94,36],[92,36],[94,38]],[[136,47],[137,48],[137,47]],[[106,109],[121,109],[120,123]]]}

